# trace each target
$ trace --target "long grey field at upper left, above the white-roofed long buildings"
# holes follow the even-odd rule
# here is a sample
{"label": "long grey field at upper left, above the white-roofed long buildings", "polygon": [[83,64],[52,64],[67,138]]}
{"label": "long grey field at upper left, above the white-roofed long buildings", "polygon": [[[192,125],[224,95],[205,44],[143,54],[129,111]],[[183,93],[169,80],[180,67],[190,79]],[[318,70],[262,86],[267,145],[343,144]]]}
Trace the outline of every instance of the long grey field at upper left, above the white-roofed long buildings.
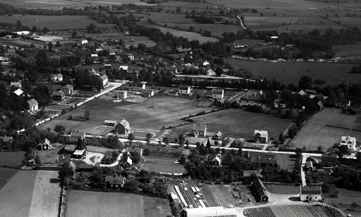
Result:
{"label": "long grey field at upper left, above the white-roofed long buildings", "polygon": [[[39,29],[48,27],[49,30],[70,30],[70,29],[86,29],[89,23],[94,23],[97,27],[107,28],[113,27],[113,24],[101,24],[91,19],[88,16],[42,16],[42,15],[14,15],[12,17],[0,16],[1,22],[16,23],[21,21],[23,26],[36,26]],[[38,22],[39,21],[39,22]],[[61,23],[61,25],[59,25]]]}

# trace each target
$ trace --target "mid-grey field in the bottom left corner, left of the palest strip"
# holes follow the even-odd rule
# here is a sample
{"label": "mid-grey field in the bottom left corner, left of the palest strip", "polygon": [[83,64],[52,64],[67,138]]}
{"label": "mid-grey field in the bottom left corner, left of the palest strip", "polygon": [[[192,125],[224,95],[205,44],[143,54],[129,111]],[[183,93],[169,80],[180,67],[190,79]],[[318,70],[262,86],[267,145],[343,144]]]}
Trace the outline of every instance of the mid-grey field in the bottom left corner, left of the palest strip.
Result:
{"label": "mid-grey field in the bottom left corner, left of the palest strip", "polygon": [[19,171],[6,183],[0,190],[0,216],[29,215],[37,173],[38,171]]}

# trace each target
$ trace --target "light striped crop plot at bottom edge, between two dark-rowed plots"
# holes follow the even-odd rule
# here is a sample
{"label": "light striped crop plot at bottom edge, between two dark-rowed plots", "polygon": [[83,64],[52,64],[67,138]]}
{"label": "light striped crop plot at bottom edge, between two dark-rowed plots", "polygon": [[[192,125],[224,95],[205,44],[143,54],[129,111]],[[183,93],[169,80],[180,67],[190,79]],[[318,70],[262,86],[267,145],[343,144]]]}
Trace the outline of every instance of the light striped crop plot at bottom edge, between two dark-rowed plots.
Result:
{"label": "light striped crop plot at bottom edge, between two dark-rowed plots", "polygon": [[273,206],[271,210],[277,217],[313,217],[307,206]]}

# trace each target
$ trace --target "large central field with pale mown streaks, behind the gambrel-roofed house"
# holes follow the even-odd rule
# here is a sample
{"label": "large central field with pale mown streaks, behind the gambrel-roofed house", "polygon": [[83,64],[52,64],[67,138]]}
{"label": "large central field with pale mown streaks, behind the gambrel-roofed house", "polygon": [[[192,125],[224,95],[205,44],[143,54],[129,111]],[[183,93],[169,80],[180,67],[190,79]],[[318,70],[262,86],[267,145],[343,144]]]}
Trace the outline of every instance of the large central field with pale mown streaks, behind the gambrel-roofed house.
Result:
{"label": "large central field with pale mown streaks, behind the gambrel-roofed house", "polygon": [[[52,120],[43,126],[44,129],[54,127],[58,124],[66,126],[66,130],[74,129],[84,132],[91,132],[99,125],[104,123],[105,119],[113,117],[114,119],[125,119],[129,121],[131,128],[149,128],[161,129],[162,126],[174,126],[184,121],[179,118],[197,114],[200,111],[210,111],[210,108],[196,107],[197,101],[188,100],[180,97],[155,96],[152,101],[147,100],[143,103],[124,105],[121,102],[105,100],[103,97],[96,98],[85,105],[79,106],[74,111],[67,113],[60,118]],[[90,120],[83,121],[67,120],[70,115],[84,114],[85,110],[90,110]]]}

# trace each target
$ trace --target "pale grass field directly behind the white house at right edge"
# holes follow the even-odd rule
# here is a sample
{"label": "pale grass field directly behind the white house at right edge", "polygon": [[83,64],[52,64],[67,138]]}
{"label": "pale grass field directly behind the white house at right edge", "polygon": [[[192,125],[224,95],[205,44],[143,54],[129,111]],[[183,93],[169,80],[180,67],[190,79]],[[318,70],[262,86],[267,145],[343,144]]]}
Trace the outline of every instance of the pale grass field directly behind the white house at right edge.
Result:
{"label": "pale grass field directly behind the white house at right edge", "polygon": [[[342,114],[341,109],[338,108],[324,108],[310,118],[291,145],[300,148],[306,146],[306,150],[317,150],[317,146],[321,145],[323,150],[327,150],[335,143],[339,143],[341,136],[355,137],[356,141],[359,141],[361,132],[347,130],[361,130],[361,124],[358,123],[357,117],[358,115]],[[347,129],[327,127],[326,125]]]}

